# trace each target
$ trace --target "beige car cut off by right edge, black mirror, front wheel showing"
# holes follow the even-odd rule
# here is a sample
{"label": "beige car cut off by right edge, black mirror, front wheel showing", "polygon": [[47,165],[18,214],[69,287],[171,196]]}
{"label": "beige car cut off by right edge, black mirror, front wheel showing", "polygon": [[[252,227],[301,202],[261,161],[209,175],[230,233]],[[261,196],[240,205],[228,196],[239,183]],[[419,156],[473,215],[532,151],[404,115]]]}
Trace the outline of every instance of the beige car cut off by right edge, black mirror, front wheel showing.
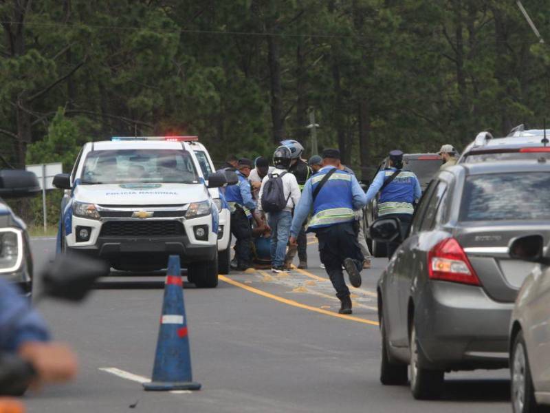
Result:
{"label": "beige car cut off by right edge, black mirror, front wheel showing", "polygon": [[510,321],[511,403],[514,413],[550,410],[550,257],[540,234],[512,240],[510,256],[534,263]]}

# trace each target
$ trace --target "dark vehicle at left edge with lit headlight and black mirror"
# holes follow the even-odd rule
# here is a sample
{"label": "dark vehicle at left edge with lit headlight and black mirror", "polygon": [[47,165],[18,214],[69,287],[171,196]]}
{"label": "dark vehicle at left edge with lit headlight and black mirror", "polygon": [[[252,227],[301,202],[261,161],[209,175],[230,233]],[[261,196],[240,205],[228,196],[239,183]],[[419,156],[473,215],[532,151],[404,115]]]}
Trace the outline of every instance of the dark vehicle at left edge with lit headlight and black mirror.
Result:
{"label": "dark vehicle at left edge with lit headlight and black mirror", "polygon": [[32,294],[32,256],[27,226],[2,198],[22,198],[39,192],[34,173],[0,171],[0,277],[17,284],[27,297]]}

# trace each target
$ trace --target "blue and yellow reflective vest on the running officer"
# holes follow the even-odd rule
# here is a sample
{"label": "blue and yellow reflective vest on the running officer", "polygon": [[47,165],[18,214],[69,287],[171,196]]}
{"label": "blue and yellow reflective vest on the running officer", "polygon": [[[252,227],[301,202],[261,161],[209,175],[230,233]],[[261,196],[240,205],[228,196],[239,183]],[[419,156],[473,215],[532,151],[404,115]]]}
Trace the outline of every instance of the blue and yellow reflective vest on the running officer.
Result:
{"label": "blue and yellow reflective vest on the running officer", "polygon": [[[316,173],[311,177],[311,193],[313,193],[330,169]],[[323,226],[353,222],[353,195],[351,193],[351,174],[336,171],[323,185],[314,201],[314,215],[309,220],[308,231]]]}

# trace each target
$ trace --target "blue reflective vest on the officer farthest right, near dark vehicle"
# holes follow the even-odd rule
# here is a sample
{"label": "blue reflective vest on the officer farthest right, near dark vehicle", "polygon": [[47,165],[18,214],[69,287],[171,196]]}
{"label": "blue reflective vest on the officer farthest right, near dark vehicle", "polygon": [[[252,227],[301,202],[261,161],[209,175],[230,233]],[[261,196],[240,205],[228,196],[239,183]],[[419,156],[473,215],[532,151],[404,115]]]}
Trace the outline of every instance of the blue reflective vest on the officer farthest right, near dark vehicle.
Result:
{"label": "blue reflective vest on the officer farthest right, near dark vehicle", "polygon": [[[389,179],[395,169],[385,169],[384,179]],[[417,176],[411,171],[401,171],[395,179],[380,193],[378,216],[389,213],[415,213],[415,185]]]}

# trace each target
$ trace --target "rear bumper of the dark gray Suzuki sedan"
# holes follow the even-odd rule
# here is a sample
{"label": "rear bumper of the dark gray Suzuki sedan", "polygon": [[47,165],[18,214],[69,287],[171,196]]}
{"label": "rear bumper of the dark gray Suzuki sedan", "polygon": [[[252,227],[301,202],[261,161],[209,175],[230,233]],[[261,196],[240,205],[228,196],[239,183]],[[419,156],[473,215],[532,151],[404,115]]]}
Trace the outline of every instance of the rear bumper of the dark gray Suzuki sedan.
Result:
{"label": "rear bumper of the dark gray Suzuki sedan", "polygon": [[438,281],[430,282],[418,302],[415,326],[426,367],[507,367],[514,303],[494,301],[481,287]]}

